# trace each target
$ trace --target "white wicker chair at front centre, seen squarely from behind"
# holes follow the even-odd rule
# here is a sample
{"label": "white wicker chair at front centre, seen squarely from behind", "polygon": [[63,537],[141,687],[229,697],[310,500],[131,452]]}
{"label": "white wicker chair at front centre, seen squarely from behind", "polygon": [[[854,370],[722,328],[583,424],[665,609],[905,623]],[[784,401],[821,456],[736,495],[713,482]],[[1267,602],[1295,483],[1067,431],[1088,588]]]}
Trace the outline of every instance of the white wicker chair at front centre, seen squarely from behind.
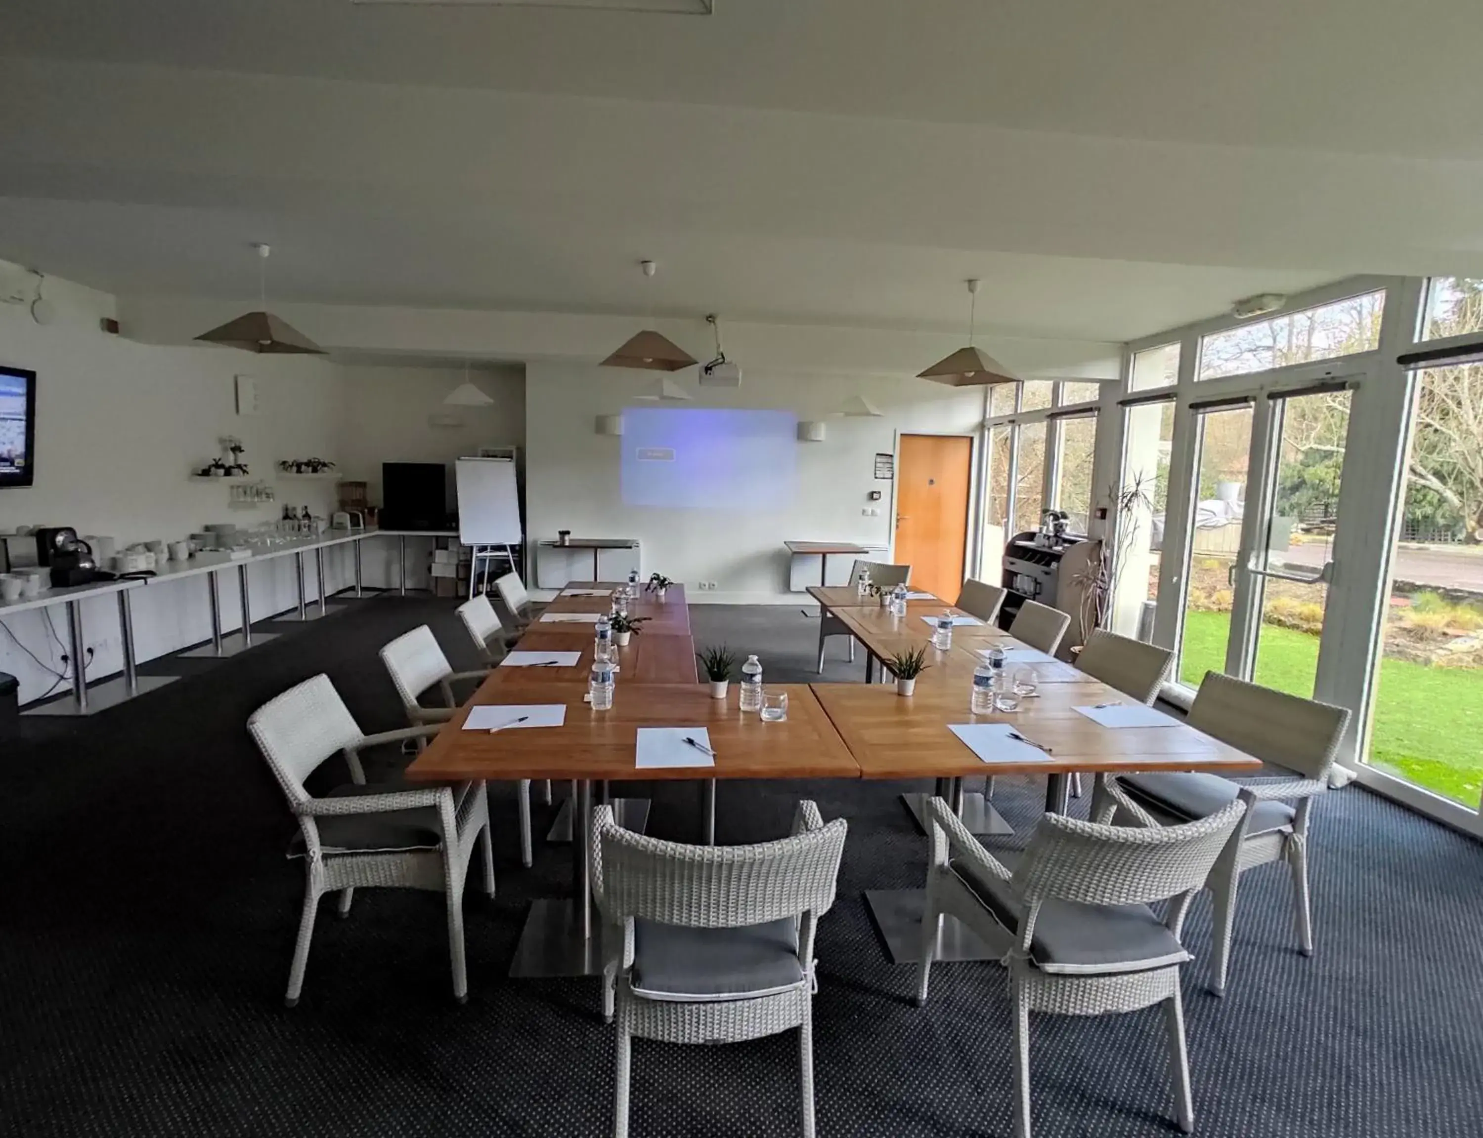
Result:
{"label": "white wicker chair at front centre, seen squarely from behind", "polygon": [[[802,1132],[814,1135],[814,928],[835,899],[845,821],[801,802],[793,836],[752,846],[685,846],[592,828],[592,889],[612,956],[604,1015],[617,1011],[612,1134],[629,1132],[633,1036],[739,1043],[799,1028]],[[615,991],[614,991],[615,988]]]}

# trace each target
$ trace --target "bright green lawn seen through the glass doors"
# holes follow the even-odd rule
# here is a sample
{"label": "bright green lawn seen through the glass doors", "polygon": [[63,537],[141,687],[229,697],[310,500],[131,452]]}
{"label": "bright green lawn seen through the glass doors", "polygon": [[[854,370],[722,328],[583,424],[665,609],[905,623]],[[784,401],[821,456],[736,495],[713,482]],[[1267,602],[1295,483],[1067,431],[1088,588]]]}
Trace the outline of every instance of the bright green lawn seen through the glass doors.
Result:
{"label": "bright green lawn seen through the glass doors", "polygon": [[[1231,628],[1226,612],[1185,616],[1180,680],[1198,686],[1207,671],[1225,670]],[[1312,695],[1318,637],[1265,625],[1256,653],[1256,682]],[[1428,668],[1404,659],[1381,662],[1370,762],[1437,794],[1479,805],[1483,787],[1483,671]]]}

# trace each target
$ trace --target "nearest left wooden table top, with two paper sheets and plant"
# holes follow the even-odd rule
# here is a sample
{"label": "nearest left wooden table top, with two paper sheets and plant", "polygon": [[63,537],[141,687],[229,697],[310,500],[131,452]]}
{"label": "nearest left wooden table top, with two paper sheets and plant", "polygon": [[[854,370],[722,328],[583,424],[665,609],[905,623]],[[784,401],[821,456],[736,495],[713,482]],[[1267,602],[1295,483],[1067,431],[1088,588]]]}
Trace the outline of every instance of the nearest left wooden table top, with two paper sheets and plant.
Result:
{"label": "nearest left wooden table top, with two paper sheets and plant", "polygon": [[[523,671],[516,668],[515,671]],[[555,671],[555,668],[541,668]],[[808,685],[770,685],[787,692],[787,719],[764,723],[737,708],[737,691],[712,699],[700,685],[618,682],[612,708],[593,711],[583,683],[547,683],[540,691],[483,685],[472,704],[565,704],[561,728],[516,728],[494,735],[461,731],[469,705],[406,769],[411,781],[463,779],[697,779],[697,778],[859,778],[860,768]],[[513,696],[513,698],[512,698]],[[639,728],[706,728],[715,766],[639,769]]]}

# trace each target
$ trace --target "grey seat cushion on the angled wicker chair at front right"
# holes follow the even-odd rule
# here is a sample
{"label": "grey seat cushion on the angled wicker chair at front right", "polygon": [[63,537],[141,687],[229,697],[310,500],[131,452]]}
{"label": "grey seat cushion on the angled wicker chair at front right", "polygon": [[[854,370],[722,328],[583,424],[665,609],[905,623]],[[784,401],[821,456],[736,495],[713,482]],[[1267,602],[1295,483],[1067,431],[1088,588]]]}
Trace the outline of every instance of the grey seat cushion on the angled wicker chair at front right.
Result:
{"label": "grey seat cushion on the angled wicker chair at front right", "polygon": [[[998,851],[994,856],[1010,870],[1017,861],[1017,855]],[[1017,938],[1025,902],[1010,883],[965,861],[954,859],[951,867],[994,920]],[[1046,901],[1040,907],[1029,956],[1041,972],[1068,976],[1142,972],[1189,959],[1179,938],[1148,905],[1078,905],[1072,901]]]}

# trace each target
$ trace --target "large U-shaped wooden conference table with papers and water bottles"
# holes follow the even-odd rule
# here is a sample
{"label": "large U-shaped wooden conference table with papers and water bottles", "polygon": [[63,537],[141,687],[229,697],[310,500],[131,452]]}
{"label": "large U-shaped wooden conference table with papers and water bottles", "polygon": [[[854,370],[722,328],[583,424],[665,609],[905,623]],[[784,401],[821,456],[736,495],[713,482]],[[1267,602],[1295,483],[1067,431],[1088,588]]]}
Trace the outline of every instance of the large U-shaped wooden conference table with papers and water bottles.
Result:
{"label": "large U-shaped wooden conference table with papers and water bottles", "polygon": [[[611,597],[559,596],[546,612],[602,612]],[[586,585],[581,588],[587,588]],[[672,606],[641,599],[630,605],[635,615]],[[814,590],[810,590],[811,593]],[[828,594],[828,590],[820,590]],[[853,590],[851,590],[853,593]],[[679,594],[684,596],[682,593]],[[820,599],[816,596],[816,599]],[[851,597],[829,597],[842,602]],[[921,615],[936,615],[946,606],[940,599],[912,602],[906,616],[891,616],[878,605],[830,609],[851,624],[854,634],[876,659],[888,659],[894,646],[930,645],[931,627]],[[593,975],[602,971],[601,928],[592,910],[590,834],[593,799],[605,797],[611,784],[653,779],[694,779],[703,787],[701,837],[713,837],[715,784],[727,779],[934,779],[936,793],[961,809],[968,797],[962,779],[974,775],[1044,775],[1047,809],[1066,809],[1071,773],[1096,775],[1129,771],[1207,771],[1223,775],[1255,773],[1262,763],[1213,739],[1182,720],[1157,728],[1105,728],[1078,707],[1134,704],[1115,689],[1086,676],[1063,661],[1050,658],[1028,665],[1040,680],[1037,693],[1016,711],[974,714],[970,707],[973,671],[988,645],[1026,648],[992,625],[961,625],[952,648],[928,648],[931,665],[918,679],[914,695],[900,696],[894,686],[878,683],[768,685],[768,692],[786,692],[787,719],[767,723],[756,713],[742,713],[739,692],[712,699],[696,682],[694,642],[688,636],[688,612],[655,613],[661,628],[676,631],[639,633],[618,649],[620,673],[614,705],[593,711],[586,702],[592,662],[590,625],[537,619],[521,637],[518,650],[580,650],[575,667],[513,667],[503,664],[479,686],[406,771],[411,781],[467,779],[561,779],[572,782],[575,803],[572,833],[572,896],[532,904],[521,935],[512,976]],[[645,625],[650,627],[650,625]],[[682,655],[687,661],[681,664]],[[673,671],[670,671],[673,670]],[[682,682],[655,676],[682,674]],[[464,731],[470,708],[498,704],[561,704],[558,728]],[[970,723],[1007,723],[1044,757],[1003,762],[980,759],[952,732]],[[704,728],[715,751],[713,766],[638,765],[639,728]],[[706,757],[697,751],[697,762]],[[925,796],[916,796],[925,797]],[[992,806],[985,803],[988,811]],[[995,813],[997,816],[997,813]],[[1003,824],[1003,819],[1000,819]],[[641,828],[636,825],[635,828]],[[1007,831],[1004,825],[1000,833]],[[876,922],[893,962],[915,960],[921,948],[921,889],[866,891],[866,905]],[[952,919],[939,929],[937,951],[943,960],[988,959],[988,947]]]}

